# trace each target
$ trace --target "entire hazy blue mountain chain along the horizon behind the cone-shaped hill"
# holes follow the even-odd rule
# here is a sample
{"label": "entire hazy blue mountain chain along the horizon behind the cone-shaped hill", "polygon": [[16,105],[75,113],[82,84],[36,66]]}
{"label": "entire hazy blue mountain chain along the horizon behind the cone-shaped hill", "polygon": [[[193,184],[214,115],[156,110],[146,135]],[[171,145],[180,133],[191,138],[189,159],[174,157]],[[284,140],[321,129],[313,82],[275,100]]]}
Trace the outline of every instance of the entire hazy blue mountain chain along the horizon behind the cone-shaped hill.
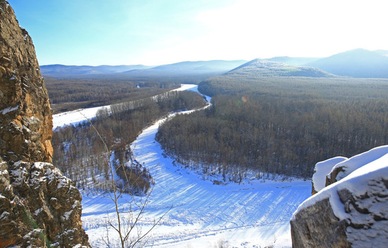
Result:
{"label": "entire hazy blue mountain chain along the horizon behind the cone-shaped hill", "polygon": [[[269,59],[273,64],[262,62],[258,66],[264,73],[264,65],[273,71],[273,76],[351,76],[356,78],[388,78],[388,50],[369,51],[362,48],[333,54],[324,58],[275,56]],[[253,60],[254,61],[254,60]],[[192,81],[204,80],[206,76],[217,76],[235,71],[244,60],[182,61],[165,65],[42,65],[45,76],[78,79],[156,79],[168,76],[194,76]],[[277,68],[276,68],[277,67]],[[283,68],[283,73],[280,73]],[[315,69],[313,69],[315,68]],[[327,74],[329,73],[329,74]],[[281,75],[279,75],[281,74]],[[193,83],[193,82],[191,82]]]}

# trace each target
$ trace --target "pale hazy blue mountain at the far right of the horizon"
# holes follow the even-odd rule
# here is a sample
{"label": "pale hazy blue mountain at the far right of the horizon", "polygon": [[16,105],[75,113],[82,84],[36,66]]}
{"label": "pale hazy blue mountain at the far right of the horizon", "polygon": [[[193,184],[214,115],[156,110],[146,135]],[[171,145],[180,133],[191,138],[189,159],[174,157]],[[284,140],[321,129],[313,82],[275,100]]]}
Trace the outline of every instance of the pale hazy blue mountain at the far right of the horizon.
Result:
{"label": "pale hazy blue mountain at the far right of the horizon", "polygon": [[388,78],[387,54],[388,51],[385,50],[356,49],[318,59],[306,65],[341,76]]}

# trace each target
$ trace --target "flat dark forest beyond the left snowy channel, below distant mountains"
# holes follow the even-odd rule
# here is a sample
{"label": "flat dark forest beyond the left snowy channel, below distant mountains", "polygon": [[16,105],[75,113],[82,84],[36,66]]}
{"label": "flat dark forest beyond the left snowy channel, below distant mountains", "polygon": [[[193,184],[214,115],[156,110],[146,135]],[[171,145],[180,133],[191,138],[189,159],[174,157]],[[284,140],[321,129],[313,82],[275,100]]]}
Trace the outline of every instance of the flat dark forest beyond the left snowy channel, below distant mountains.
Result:
{"label": "flat dark forest beyond the left snowy channel, below distant mountains", "polygon": [[144,99],[180,86],[169,81],[55,79],[50,76],[46,76],[45,81],[54,114]]}

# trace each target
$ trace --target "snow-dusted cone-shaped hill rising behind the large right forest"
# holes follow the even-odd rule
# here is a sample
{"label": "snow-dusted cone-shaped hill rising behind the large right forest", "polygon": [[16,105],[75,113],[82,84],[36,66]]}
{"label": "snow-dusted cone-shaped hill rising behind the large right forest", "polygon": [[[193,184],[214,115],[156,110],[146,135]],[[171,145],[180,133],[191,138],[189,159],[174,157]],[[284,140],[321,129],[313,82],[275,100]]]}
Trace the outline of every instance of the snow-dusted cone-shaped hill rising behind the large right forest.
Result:
{"label": "snow-dusted cone-shaped hill rising behind the large right forest", "polygon": [[227,72],[226,76],[244,76],[256,78],[260,76],[310,76],[332,77],[336,76],[317,68],[307,66],[287,65],[285,63],[268,61],[265,59],[253,59],[239,67]]}

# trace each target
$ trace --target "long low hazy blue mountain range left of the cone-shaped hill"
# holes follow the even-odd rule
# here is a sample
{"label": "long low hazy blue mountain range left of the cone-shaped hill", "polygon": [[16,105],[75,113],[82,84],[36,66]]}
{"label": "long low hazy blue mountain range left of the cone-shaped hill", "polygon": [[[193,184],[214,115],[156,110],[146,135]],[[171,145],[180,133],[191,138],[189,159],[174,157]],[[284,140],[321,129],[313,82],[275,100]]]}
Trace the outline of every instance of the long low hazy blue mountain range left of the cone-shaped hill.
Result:
{"label": "long low hazy blue mountain range left of the cone-shaped hill", "polygon": [[168,65],[42,65],[45,76],[71,79],[115,79],[131,81],[171,81],[179,83],[200,83],[246,63],[235,61],[185,61]]}

